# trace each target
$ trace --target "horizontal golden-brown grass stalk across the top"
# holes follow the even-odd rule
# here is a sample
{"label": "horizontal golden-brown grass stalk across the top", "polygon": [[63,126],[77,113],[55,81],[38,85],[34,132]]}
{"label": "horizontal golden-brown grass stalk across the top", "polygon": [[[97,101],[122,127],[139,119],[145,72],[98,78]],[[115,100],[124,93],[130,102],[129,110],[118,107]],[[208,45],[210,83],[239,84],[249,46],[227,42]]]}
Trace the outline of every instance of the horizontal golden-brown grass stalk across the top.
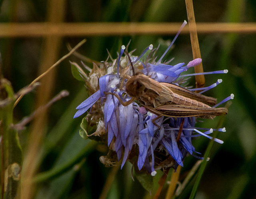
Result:
{"label": "horizontal golden-brown grass stalk across the top", "polygon": [[[180,23],[150,22],[84,22],[84,23],[0,23],[0,38],[46,37],[46,36],[116,36],[116,35],[175,35]],[[202,23],[197,22],[198,34],[243,33],[255,34],[256,23]],[[185,26],[181,34],[188,34]]]}

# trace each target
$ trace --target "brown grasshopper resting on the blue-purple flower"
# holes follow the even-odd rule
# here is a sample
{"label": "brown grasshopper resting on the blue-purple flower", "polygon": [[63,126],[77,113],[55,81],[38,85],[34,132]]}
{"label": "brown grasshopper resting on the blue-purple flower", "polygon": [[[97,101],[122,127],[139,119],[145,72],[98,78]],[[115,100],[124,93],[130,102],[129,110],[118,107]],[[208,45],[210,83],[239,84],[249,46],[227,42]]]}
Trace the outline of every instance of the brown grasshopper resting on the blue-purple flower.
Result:
{"label": "brown grasshopper resting on the blue-purple flower", "polygon": [[158,116],[152,119],[155,125],[155,120],[162,116],[213,119],[215,116],[228,113],[228,109],[225,107],[210,107],[210,105],[216,104],[215,98],[194,93],[174,84],[157,82],[140,72],[132,77],[126,75],[124,79],[127,79],[126,93],[132,97],[131,99],[124,102],[118,94],[106,94],[116,96],[124,106],[137,99],[147,111]]}

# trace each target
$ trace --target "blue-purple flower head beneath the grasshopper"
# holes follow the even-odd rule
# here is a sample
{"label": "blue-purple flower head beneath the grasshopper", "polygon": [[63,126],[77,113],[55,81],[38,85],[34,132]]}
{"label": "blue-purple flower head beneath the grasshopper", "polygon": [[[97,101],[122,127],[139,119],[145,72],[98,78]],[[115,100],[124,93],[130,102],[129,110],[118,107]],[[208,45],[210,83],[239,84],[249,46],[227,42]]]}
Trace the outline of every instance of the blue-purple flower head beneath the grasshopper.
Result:
{"label": "blue-purple flower head beneath the grasshopper", "polygon": [[[124,166],[126,160],[129,160],[137,165],[139,170],[143,169],[155,175],[157,169],[169,167],[176,169],[178,165],[183,166],[183,160],[188,154],[198,157],[194,155],[198,152],[192,145],[193,137],[203,135],[218,143],[223,143],[208,135],[213,129],[196,128],[196,117],[178,115],[177,117],[164,117],[158,115],[157,111],[152,111],[152,113],[148,111],[148,107],[142,106],[140,100],[134,100],[126,92],[128,76],[137,72],[142,72],[157,82],[178,84],[180,82],[178,78],[182,76],[182,72],[200,64],[202,59],[192,60],[186,66],[184,63],[172,66],[169,62],[161,63],[161,60],[156,62],[155,53],[141,61],[144,53],[153,49],[152,45],[146,48],[139,57],[132,56],[131,53],[122,56],[124,49],[125,47],[122,46],[118,58],[112,63],[109,64],[106,61],[102,66],[94,67],[89,78],[98,74],[98,83],[87,80],[86,84],[90,88],[98,89],[78,105],[76,108],[78,111],[74,115],[74,118],[79,117],[90,109],[90,114],[87,115],[90,117],[88,121],[94,121],[95,125],[98,123],[97,131],[98,129],[104,131],[95,135],[107,135],[106,143],[112,151],[106,157],[108,160],[121,161],[121,167]],[[207,87],[200,90],[208,89]],[[154,105],[151,108],[153,110]],[[94,119],[91,119],[92,117]],[[223,131],[223,129],[214,130]],[[108,162],[108,165],[114,165],[114,163]]]}

